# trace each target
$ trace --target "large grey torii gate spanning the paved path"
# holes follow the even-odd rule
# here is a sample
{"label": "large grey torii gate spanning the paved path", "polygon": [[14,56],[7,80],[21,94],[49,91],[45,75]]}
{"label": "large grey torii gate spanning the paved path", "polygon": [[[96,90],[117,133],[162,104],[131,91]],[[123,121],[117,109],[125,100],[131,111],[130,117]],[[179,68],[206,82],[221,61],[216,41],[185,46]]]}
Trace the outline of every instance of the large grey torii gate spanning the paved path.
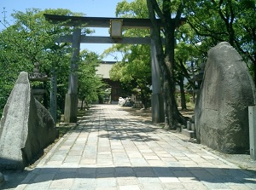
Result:
{"label": "large grey torii gate spanning the paved path", "polygon": [[[44,14],[46,20],[51,23],[65,23],[65,26],[83,26],[84,27],[105,27],[109,28],[111,20],[122,20],[122,28],[140,28],[151,29],[152,24],[149,19],[132,18],[102,18],[102,17],[80,17],[65,16],[56,14]],[[158,20],[160,22],[160,20]],[[56,42],[73,43],[73,55],[71,59],[71,70],[78,68],[80,43],[129,43],[129,44],[150,44],[151,45],[151,67],[152,67],[152,122],[164,122],[164,101],[160,88],[160,67],[156,59],[156,50],[154,40],[151,37],[88,37],[81,35],[81,29],[77,28],[73,36],[65,36],[57,39]],[[77,122],[78,112],[78,76],[71,72],[68,81],[68,92],[66,94],[64,120],[67,123]]]}

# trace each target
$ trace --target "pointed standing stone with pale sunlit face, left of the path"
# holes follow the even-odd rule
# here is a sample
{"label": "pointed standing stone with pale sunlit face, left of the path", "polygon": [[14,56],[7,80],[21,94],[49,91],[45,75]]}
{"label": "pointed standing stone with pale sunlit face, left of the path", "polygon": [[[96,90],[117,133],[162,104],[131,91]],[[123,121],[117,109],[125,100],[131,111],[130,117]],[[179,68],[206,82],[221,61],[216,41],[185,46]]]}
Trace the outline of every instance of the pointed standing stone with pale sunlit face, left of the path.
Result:
{"label": "pointed standing stone with pale sunlit face, left of the path", "polygon": [[3,169],[24,169],[58,135],[50,113],[32,96],[27,72],[20,72],[0,124]]}

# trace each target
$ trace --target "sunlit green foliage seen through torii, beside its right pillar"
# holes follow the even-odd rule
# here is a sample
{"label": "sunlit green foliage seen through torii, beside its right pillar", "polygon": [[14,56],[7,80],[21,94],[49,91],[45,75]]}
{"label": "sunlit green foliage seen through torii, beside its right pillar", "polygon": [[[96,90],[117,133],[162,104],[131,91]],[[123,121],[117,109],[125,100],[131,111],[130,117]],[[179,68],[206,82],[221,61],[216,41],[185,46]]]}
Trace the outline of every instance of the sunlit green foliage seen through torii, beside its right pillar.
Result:
{"label": "sunlit green foliage seen through torii, beside its right pillar", "polygon": [[[148,18],[147,2],[136,0],[131,3],[123,1],[116,7],[116,16],[125,18]],[[125,37],[148,37],[149,30],[125,29]],[[148,45],[116,44],[104,53],[121,52],[123,59],[115,64],[110,78],[120,81],[128,91],[141,96],[144,107],[147,107],[151,95],[150,47]],[[139,90],[138,90],[139,89]]]}

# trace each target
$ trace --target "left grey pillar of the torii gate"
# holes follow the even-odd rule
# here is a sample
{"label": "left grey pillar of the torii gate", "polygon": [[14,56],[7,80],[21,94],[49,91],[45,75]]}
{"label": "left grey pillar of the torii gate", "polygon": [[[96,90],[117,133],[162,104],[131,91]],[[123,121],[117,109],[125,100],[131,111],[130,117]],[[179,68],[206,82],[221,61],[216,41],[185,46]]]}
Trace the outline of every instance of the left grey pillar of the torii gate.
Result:
{"label": "left grey pillar of the torii gate", "polygon": [[81,29],[76,28],[73,32],[73,54],[70,61],[70,74],[68,78],[68,90],[65,99],[64,122],[76,123],[78,116],[78,87],[79,87],[79,52],[81,41]]}

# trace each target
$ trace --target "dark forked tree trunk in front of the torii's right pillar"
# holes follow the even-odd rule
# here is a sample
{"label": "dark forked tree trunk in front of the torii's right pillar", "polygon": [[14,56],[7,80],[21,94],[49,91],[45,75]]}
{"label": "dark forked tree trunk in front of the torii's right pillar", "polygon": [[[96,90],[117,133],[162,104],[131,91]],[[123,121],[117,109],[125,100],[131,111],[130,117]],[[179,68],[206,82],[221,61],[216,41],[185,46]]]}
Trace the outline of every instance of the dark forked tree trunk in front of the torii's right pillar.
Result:
{"label": "dark forked tree trunk in front of the torii's right pillar", "polygon": [[[185,119],[177,110],[175,99],[175,78],[174,78],[174,46],[175,30],[180,25],[180,19],[183,11],[183,3],[179,1],[163,0],[161,7],[155,0],[147,0],[149,18],[153,25],[151,37],[154,39],[157,59],[160,64],[162,76],[162,89],[165,100],[165,118],[166,128],[175,129],[177,124],[185,124]],[[176,12],[175,12],[175,11]],[[176,14],[172,19],[172,14]],[[162,33],[165,36],[165,49],[161,42],[161,27],[157,22],[160,18],[163,24]]]}

